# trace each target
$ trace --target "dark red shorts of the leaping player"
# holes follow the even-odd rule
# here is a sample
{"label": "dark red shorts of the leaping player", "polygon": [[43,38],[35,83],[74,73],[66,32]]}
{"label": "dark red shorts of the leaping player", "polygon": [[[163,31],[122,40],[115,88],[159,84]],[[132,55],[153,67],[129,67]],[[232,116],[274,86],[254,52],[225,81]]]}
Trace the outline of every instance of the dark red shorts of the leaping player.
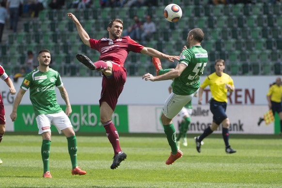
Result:
{"label": "dark red shorts of the leaping player", "polygon": [[125,81],[125,68],[116,63],[112,63],[111,77],[108,78],[104,75],[102,79],[101,98],[99,100],[100,106],[101,102],[105,101],[110,108],[114,110],[118,101],[118,97],[124,89]]}

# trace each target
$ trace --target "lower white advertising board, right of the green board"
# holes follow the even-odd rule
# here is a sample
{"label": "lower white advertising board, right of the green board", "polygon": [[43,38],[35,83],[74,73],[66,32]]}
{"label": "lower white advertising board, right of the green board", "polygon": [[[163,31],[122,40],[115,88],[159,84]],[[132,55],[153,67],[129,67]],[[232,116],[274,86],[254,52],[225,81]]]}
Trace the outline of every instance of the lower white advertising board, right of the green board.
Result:
{"label": "lower white advertising board, right of the green board", "polygon": [[[258,118],[267,111],[267,106],[228,106],[226,114],[230,119],[231,134],[273,134],[274,125],[257,125]],[[128,106],[129,132],[134,133],[163,133],[163,126],[160,121],[162,106]],[[188,133],[202,134],[204,129],[212,123],[212,113],[208,105],[194,106],[191,116],[191,124]],[[176,132],[181,117],[173,119]],[[222,126],[219,126],[215,133],[221,134]]]}

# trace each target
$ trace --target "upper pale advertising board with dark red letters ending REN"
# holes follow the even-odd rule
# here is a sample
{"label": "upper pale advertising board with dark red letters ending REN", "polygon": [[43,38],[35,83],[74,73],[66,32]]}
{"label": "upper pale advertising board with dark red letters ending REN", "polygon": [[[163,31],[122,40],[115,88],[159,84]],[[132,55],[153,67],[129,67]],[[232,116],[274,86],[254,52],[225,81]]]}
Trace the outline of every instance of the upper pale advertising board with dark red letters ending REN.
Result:
{"label": "upper pale advertising board with dark red letters ending REN", "polygon": [[[201,83],[204,81],[201,77]],[[269,85],[275,81],[277,76],[233,76],[235,92],[229,97],[229,104],[235,105],[267,105],[266,94]],[[74,105],[99,104],[101,94],[101,77],[70,77],[62,78],[63,84],[69,94],[70,102]],[[23,78],[15,82],[18,91]],[[162,105],[168,97],[168,87],[171,80],[145,81],[141,77],[128,77],[124,91],[119,97],[120,105]],[[9,94],[9,88],[4,81],[0,81],[1,95],[4,104],[13,104],[15,95]],[[209,88],[203,94],[204,103],[211,97]],[[64,104],[59,90],[56,90],[59,104]],[[197,100],[193,100],[196,104]],[[31,104],[29,91],[24,95],[21,104]]]}

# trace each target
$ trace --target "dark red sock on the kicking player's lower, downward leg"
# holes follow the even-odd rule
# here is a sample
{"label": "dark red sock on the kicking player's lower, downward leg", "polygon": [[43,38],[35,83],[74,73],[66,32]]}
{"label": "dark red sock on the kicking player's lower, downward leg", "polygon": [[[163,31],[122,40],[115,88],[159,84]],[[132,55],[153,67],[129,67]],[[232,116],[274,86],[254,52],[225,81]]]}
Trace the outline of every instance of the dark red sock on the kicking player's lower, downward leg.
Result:
{"label": "dark red sock on the kicking player's lower, downward leg", "polygon": [[117,155],[119,152],[122,151],[121,146],[120,146],[120,142],[119,142],[118,132],[117,132],[117,130],[116,130],[116,128],[113,125],[111,120],[109,122],[104,123],[103,126],[106,129],[106,133],[107,133],[108,139],[109,139],[109,141],[112,145],[114,155]]}

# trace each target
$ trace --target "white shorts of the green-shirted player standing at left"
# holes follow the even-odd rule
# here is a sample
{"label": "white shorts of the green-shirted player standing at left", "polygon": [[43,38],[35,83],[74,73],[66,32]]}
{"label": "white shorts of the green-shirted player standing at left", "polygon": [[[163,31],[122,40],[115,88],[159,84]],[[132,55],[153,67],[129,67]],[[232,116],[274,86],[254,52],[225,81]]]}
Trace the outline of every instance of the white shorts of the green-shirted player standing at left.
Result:
{"label": "white shorts of the green-shirted player standing at left", "polygon": [[51,132],[51,125],[54,125],[60,134],[63,129],[72,127],[69,118],[63,111],[52,114],[40,114],[35,119],[39,129],[38,134]]}

